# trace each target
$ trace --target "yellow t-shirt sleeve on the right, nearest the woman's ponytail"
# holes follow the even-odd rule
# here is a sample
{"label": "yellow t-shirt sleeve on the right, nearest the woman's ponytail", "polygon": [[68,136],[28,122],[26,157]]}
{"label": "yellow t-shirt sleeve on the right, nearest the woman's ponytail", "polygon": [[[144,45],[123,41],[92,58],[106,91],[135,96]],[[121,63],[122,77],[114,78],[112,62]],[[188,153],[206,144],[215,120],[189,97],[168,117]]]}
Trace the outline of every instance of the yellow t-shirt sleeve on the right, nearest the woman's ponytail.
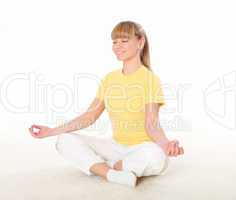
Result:
{"label": "yellow t-shirt sleeve on the right, nearest the woman's ponytail", "polygon": [[159,103],[165,105],[164,93],[160,78],[156,74],[150,74],[147,77],[145,85],[145,104]]}

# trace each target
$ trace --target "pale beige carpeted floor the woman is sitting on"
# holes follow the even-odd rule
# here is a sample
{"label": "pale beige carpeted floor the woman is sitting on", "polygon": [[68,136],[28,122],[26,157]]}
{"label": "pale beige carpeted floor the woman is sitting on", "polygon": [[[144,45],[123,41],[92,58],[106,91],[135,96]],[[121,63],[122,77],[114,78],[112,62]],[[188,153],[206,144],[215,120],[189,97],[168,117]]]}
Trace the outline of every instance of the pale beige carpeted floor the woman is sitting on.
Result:
{"label": "pale beige carpeted floor the woman is sitting on", "polygon": [[[235,135],[182,133],[185,155],[135,189],[88,177],[61,158],[56,138],[0,140],[1,200],[235,200]],[[217,139],[219,138],[219,139]],[[224,138],[224,139],[222,139]]]}

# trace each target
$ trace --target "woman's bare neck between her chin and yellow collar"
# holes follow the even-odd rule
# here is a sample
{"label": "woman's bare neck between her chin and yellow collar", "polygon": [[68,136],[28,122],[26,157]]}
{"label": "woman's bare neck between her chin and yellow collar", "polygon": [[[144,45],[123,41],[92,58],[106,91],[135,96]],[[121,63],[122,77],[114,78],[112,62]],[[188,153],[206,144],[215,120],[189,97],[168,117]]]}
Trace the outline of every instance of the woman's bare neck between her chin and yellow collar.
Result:
{"label": "woman's bare neck between her chin and yellow collar", "polygon": [[134,57],[130,60],[125,60],[123,62],[122,72],[124,74],[131,74],[135,72],[141,65],[142,62],[139,57]]}

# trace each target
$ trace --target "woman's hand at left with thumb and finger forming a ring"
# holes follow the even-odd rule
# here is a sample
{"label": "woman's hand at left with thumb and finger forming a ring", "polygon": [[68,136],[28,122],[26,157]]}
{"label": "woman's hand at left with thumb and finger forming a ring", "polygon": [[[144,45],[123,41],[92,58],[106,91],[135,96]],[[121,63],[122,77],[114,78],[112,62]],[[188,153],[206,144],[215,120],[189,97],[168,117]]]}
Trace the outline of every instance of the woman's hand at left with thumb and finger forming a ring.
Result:
{"label": "woman's hand at left with thumb and finger forming a ring", "polygon": [[29,128],[30,134],[35,138],[44,138],[44,137],[52,136],[52,131],[53,131],[52,128],[49,128],[47,126],[41,126],[41,125],[32,125]]}

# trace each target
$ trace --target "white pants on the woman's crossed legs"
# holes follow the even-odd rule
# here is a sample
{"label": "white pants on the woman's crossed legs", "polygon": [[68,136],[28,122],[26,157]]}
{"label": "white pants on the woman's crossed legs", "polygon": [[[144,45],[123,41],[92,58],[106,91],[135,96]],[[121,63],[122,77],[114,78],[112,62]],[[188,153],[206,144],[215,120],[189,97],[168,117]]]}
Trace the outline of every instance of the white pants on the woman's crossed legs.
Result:
{"label": "white pants on the woman's crossed legs", "polygon": [[163,174],[169,163],[168,156],[152,141],[127,146],[113,138],[63,133],[57,136],[56,149],[87,175],[93,175],[89,169],[95,163],[122,160],[123,170],[137,177]]}

